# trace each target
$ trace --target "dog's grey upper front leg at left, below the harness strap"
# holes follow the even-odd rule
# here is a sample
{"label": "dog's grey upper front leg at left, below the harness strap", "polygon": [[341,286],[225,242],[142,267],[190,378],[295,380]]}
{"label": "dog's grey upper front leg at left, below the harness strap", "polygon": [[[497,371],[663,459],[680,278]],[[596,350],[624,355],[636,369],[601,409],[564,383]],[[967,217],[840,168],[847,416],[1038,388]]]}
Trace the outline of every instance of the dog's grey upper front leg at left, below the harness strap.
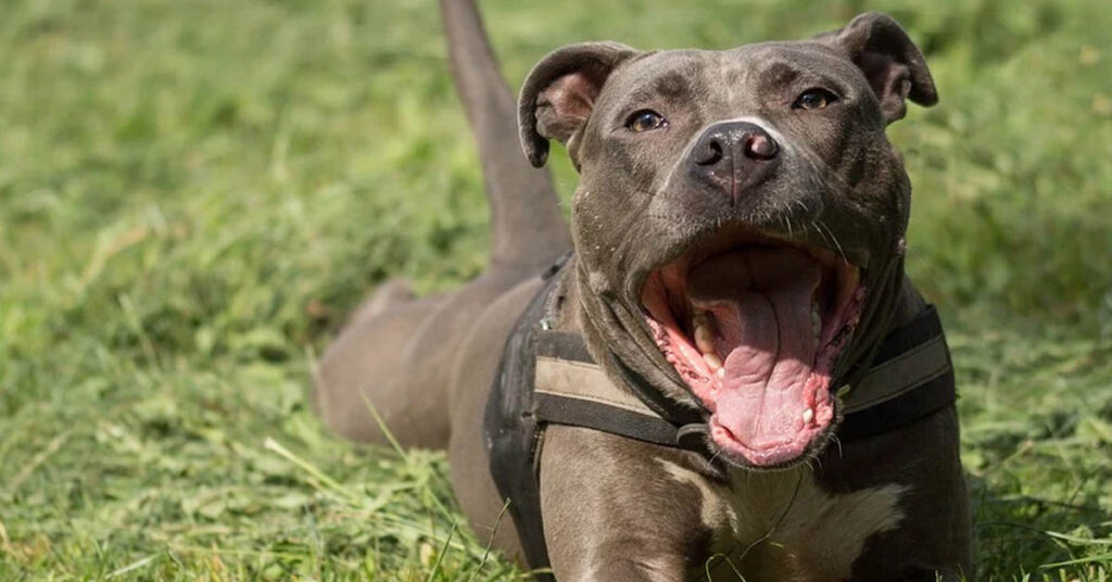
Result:
{"label": "dog's grey upper front leg at left, below the harness strap", "polygon": [[552,426],[540,460],[545,540],[559,582],[686,578],[713,529],[702,497],[666,466],[685,453]]}

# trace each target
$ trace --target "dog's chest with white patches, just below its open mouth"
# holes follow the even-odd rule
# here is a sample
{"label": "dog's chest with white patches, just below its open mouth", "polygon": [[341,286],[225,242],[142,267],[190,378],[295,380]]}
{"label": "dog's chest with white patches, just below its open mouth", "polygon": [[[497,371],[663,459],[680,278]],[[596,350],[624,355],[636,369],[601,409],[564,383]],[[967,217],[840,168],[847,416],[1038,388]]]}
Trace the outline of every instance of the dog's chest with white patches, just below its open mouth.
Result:
{"label": "dog's chest with white patches, just below its open mouth", "polygon": [[[701,497],[703,524],[713,532],[708,563],[693,574],[751,581],[845,580],[873,534],[896,529],[903,519],[905,487],[878,485],[830,493],[807,467],[776,473],[733,471],[716,483],[677,464],[661,461],[671,479],[693,486]],[[726,578],[723,578],[725,575]]]}

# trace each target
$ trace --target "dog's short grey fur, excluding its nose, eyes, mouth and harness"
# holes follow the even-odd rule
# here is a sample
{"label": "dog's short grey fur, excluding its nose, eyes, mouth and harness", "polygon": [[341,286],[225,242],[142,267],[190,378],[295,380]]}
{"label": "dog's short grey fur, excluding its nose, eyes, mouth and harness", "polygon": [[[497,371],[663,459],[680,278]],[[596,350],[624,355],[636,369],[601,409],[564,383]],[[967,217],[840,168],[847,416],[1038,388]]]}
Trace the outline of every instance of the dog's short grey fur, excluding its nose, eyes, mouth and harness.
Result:
{"label": "dog's short grey fur, excluding its nose, eyes, mouth and harness", "polygon": [[[727,51],[574,45],[537,65],[515,107],[474,1],[441,0],[440,8],[483,159],[494,260],[443,296],[414,299],[396,285],[380,293],[325,354],[315,402],[325,423],[348,437],[385,440],[366,398],[406,446],[447,447],[471,527],[480,537],[496,530],[506,554],[519,549],[513,524],[496,523],[503,503],[487,471],[481,420],[536,273],[568,247],[548,178],[529,166],[544,164],[548,139],[565,142],[580,170],[569,308],[558,325],[583,334],[596,359],[614,355],[678,402],[697,405],[654,344],[639,289],[651,270],[692,245],[759,228],[863,267],[862,323],[838,369],[870,357],[885,333],[922,307],[903,273],[911,186],[884,131],[903,117],[906,100],[933,105],[937,95],[923,56],[891,18],[863,14],[812,40]],[[822,112],[792,109],[813,86],[831,88],[840,102]],[[624,132],[629,114],[644,108],[664,114],[667,131]],[[524,157],[509,147],[518,135],[515,111]],[[729,198],[687,168],[705,131],[738,118],[766,129],[782,152],[766,177]],[[553,427],[542,497],[554,572],[559,580],[682,580],[715,552],[733,551],[749,581],[969,573],[953,407],[882,436],[815,448],[812,457],[814,468],[792,470],[806,479],[793,487],[744,468],[725,479],[691,453]],[[773,485],[754,489],[753,480]],[[746,513],[757,499],[816,509],[790,521]],[[857,555],[830,555],[790,535],[828,520],[860,534],[860,548],[846,545]]]}

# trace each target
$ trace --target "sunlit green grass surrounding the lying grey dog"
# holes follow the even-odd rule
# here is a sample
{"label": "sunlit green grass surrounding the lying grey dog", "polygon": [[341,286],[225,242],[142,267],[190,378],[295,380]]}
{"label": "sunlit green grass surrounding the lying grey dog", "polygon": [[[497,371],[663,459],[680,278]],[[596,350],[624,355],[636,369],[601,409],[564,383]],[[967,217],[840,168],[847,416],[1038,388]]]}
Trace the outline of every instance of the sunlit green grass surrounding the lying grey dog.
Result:
{"label": "sunlit green grass surrounding the lying grey dog", "polygon": [[[515,86],[576,40],[901,19],[942,95],[892,137],[976,580],[1112,580],[1103,0],[483,4]],[[376,283],[481,269],[476,168],[431,0],[2,2],[0,580],[520,579],[460,529],[443,455],[357,448],[306,404]]]}

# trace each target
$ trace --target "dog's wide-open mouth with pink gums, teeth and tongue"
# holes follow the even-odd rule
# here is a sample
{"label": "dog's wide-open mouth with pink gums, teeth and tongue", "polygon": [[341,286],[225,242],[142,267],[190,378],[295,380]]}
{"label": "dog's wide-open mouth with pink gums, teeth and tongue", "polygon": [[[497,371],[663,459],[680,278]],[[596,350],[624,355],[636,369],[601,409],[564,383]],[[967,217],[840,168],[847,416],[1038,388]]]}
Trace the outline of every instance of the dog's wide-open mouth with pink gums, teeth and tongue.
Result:
{"label": "dog's wide-open mouth with pink gums, teeth and tongue", "polygon": [[827,434],[833,367],[864,287],[826,249],[746,238],[652,272],[642,304],[665,359],[712,413],[717,450],[771,468]]}

